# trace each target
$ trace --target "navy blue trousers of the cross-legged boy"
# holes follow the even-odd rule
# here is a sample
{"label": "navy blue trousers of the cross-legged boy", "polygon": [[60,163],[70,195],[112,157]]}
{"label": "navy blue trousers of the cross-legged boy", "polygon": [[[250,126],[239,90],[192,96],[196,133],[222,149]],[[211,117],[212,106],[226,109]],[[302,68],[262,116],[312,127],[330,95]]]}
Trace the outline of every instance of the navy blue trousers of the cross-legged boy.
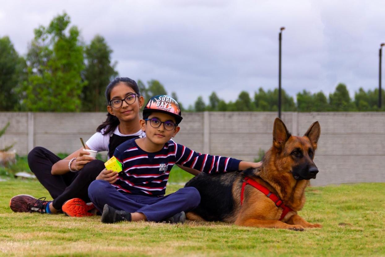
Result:
{"label": "navy blue trousers of the cross-legged boy", "polygon": [[199,205],[201,196],[196,188],[181,188],[162,197],[123,194],[104,180],[95,180],[88,187],[88,196],[102,212],[105,204],[130,213],[143,213],[148,221],[161,221],[181,211],[190,211]]}

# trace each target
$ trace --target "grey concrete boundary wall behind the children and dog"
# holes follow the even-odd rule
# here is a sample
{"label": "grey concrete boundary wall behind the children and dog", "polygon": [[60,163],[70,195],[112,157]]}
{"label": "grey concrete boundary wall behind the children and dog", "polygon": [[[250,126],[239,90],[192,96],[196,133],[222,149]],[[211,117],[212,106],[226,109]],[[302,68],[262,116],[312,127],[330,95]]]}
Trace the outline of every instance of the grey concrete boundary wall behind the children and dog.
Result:
{"label": "grey concrete boundary wall behind the children and dog", "polygon": [[[198,152],[253,161],[258,150],[272,143],[276,112],[183,113],[176,142]],[[0,112],[0,148],[26,155],[33,147],[71,153],[81,147],[105,120],[106,113]],[[313,185],[385,182],[385,113],[283,112],[282,120],[293,135],[303,135],[318,120],[321,137],[315,163],[320,169]]]}

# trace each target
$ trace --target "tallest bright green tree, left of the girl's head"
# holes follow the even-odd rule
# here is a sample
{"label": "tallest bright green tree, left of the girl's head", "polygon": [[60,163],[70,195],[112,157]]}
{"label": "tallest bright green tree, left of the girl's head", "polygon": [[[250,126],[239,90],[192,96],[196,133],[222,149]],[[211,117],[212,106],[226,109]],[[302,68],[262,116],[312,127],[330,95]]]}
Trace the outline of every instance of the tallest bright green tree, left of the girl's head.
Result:
{"label": "tallest bright green tree, left of the girl's head", "polygon": [[83,46],[76,26],[69,29],[70,17],[58,15],[48,27],[34,30],[27,53],[28,79],[20,87],[26,110],[74,112],[80,110],[85,82]]}

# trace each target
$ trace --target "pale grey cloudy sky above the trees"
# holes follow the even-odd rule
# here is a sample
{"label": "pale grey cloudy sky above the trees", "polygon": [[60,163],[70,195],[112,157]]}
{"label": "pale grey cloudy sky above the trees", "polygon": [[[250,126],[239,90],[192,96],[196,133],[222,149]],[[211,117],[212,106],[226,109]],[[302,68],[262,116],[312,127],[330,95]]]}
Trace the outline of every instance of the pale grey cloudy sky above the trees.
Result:
{"label": "pale grey cloudy sky above the trees", "polygon": [[282,86],[328,94],[343,82],[350,96],[378,87],[385,42],[383,1],[0,1],[0,37],[27,52],[33,29],[67,12],[89,43],[96,34],[114,51],[120,76],[158,79],[185,106],[212,91],[226,101],[242,91]]}

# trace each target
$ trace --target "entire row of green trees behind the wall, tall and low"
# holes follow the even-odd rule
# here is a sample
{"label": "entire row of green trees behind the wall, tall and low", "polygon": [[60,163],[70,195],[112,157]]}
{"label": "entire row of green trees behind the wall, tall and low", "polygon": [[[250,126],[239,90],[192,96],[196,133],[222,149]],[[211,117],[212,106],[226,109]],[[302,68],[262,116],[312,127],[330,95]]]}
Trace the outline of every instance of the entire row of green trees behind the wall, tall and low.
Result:
{"label": "entire row of green trees behind the wall, tall and low", "polygon": [[[34,38],[26,56],[20,56],[9,37],[0,37],[0,111],[32,112],[98,112],[105,110],[104,91],[118,76],[116,62],[111,62],[112,49],[104,37],[95,35],[90,44],[81,40],[77,26],[70,26],[66,13],[57,15],[47,27],[34,30]],[[156,79],[137,81],[146,100],[167,94]],[[382,90],[385,110],[385,91]],[[176,92],[171,96],[178,101]],[[340,83],[326,96],[322,91],[297,93],[296,101],[285,90],[281,92],[282,111],[378,111],[378,89],[360,88],[351,99],[346,85]],[[184,111],[277,111],[278,89],[259,88],[250,96],[242,91],[235,101],[226,102],[216,92],[205,103],[199,96]]]}

